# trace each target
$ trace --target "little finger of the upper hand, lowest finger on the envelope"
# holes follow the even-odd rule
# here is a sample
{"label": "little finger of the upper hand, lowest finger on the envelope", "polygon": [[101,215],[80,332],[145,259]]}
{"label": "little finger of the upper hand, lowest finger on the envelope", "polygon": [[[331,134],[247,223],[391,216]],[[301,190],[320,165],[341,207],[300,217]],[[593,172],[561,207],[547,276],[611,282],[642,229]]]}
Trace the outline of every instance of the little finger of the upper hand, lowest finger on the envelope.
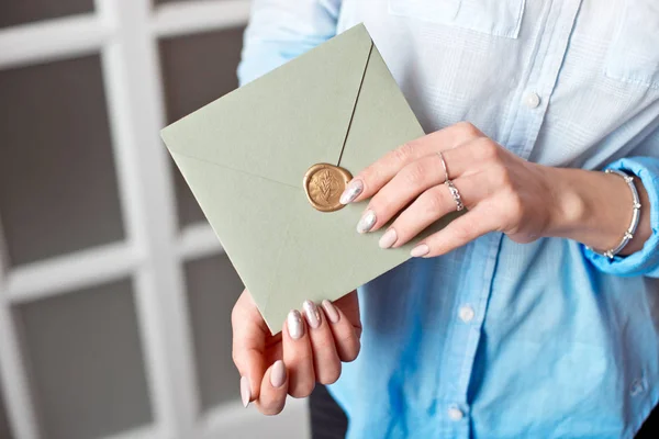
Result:
{"label": "little finger of the upper hand, lowest finger on the envelope", "polygon": [[423,258],[445,255],[498,228],[493,210],[487,203],[481,203],[416,245],[411,254]]}

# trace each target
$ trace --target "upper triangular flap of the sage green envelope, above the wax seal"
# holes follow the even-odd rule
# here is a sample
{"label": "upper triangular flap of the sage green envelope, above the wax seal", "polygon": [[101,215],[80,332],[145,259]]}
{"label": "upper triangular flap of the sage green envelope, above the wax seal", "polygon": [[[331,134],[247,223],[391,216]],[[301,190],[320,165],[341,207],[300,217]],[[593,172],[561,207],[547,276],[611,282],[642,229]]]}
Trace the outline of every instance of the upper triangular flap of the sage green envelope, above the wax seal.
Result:
{"label": "upper triangular flap of the sage green envelope, above the wax seal", "polygon": [[167,147],[300,187],[337,164],[372,41],[362,24],[163,130]]}

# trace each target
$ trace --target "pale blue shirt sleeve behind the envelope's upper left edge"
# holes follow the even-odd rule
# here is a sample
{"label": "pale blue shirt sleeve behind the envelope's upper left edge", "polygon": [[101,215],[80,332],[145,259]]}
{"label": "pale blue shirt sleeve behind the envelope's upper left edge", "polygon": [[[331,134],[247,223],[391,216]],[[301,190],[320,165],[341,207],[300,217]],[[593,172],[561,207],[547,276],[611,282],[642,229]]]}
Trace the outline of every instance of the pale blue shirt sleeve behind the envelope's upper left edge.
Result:
{"label": "pale blue shirt sleeve behind the envelope's upper left edge", "polygon": [[340,0],[255,0],[245,31],[241,86],[336,34]]}

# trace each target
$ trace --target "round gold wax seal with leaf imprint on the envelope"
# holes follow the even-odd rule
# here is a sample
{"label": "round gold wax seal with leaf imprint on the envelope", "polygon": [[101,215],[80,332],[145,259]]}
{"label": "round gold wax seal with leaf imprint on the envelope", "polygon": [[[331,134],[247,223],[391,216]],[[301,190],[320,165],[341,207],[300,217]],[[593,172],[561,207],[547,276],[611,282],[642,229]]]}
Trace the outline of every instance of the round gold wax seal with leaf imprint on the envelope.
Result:
{"label": "round gold wax seal with leaf imprint on the envelope", "polygon": [[330,164],[317,164],[304,175],[304,191],[311,205],[321,212],[343,209],[339,199],[353,176],[347,170]]}

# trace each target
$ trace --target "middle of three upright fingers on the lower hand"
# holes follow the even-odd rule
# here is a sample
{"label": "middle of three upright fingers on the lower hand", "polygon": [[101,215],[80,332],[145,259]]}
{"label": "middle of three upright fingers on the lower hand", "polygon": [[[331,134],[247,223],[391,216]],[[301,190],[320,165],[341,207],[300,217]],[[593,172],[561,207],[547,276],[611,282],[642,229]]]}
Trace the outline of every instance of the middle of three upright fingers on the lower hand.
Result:
{"label": "middle of three upright fingers on the lower hand", "polygon": [[309,328],[316,382],[332,384],[340,375],[340,360],[336,353],[332,329],[330,329],[326,316],[315,303],[304,301],[302,308]]}

